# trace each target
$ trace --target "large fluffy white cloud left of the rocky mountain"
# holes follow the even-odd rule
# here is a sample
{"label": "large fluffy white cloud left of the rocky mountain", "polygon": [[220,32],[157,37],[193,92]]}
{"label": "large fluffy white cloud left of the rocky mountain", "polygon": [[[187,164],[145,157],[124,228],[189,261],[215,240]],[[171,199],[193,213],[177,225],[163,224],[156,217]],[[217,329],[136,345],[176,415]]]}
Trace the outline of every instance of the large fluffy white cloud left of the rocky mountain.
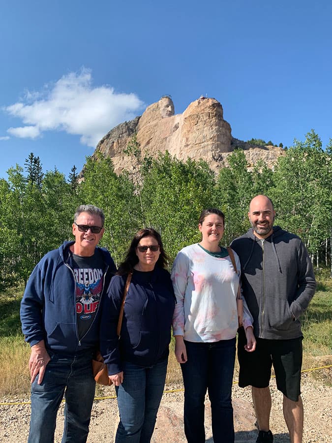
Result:
{"label": "large fluffy white cloud left of the rocky mountain", "polygon": [[143,105],[136,94],[116,93],[110,86],[92,87],[91,71],[82,69],[45,85],[41,92],[28,91],[22,102],[7,106],[5,111],[27,125],[7,132],[35,138],[43,131],[63,130],[95,147],[112,127],[138,115]]}

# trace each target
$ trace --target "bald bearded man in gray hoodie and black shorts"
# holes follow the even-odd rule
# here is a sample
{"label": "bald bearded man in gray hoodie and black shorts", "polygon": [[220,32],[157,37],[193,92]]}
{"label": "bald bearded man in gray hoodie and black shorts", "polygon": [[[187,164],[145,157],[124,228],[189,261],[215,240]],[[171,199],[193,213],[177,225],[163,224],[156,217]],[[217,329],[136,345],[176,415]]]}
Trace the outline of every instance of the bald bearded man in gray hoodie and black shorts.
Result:
{"label": "bald bearded man in gray hoodie and black shorts", "polygon": [[254,319],[257,344],[255,352],[245,352],[240,330],[239,385],[251,385],[259,428],[256,443],[272,443],[269,383],[273,364],[291,443],[302,443],[303,337],[299,317],[315,293],[312,264],[297,235],[273,226],[275,211],[270,198],[254,197],[248,217],[252,227],[231,247],[240,257],[243,296]]}

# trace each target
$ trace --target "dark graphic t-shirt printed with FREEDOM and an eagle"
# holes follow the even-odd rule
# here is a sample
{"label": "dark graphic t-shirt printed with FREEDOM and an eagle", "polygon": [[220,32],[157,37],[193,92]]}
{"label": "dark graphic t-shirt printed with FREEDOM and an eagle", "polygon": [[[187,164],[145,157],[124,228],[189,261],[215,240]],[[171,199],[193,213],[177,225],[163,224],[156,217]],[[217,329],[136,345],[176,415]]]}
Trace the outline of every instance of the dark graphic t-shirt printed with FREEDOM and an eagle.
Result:
{"label": "dark graphic t-shirt printed with FREEDOM and an eagle", "polygon": [[76,318],[79,339],[89,330],[97,313],[103,289],[104,261],[99,250],[91,257],[72,254],[76,281]]}

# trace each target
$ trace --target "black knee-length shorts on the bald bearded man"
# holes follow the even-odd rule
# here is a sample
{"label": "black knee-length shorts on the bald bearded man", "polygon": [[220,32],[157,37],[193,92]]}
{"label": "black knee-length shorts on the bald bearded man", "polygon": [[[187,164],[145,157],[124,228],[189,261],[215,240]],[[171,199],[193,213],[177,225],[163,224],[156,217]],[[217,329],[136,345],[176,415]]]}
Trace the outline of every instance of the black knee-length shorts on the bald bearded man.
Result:
{"label": "black knee-length shorts on the bald bearded man", "polygon": [[302,339],[266,340],[256,337],[253,352],[244,349],[245,332],[239,329],[239,386],[264,388],[269,386],[273,363],[276,385],[287,398],[297,402],[301,394]]}

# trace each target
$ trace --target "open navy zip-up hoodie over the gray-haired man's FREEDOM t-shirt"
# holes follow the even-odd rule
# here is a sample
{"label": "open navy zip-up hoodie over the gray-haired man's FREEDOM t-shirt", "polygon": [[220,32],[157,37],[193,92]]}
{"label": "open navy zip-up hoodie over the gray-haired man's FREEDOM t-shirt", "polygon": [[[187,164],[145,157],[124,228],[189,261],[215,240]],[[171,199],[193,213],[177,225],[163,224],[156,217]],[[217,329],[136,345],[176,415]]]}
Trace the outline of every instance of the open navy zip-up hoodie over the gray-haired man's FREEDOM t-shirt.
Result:
{"label": "open navy zip-up hoodie over the gray-haired man's FREEDOM t-shirt", "polygon": [[46,349],[75,354],[98,344],[103,293],[116,272],[116,266],[110,253],[99,248],[105,263],[103,291],[91,327],[79,341],[75,278],[68,264],[69,246],[73,243],[64,242],[59,249],[44,255],[30,275],[20,311],[22,331],[30,346],[44,340]]}

